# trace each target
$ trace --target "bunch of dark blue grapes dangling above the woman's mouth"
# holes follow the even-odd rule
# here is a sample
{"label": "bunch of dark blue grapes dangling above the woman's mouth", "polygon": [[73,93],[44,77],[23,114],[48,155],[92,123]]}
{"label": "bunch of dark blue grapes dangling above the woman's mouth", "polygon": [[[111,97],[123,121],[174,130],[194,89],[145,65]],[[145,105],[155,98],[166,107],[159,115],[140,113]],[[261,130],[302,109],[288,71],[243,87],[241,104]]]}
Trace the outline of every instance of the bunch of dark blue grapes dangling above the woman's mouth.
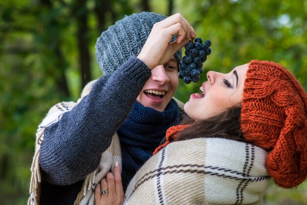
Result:
{"label": "bunch of dark blue grapes dangling above the woman's mouth", "polygon": [[203,39],[200,37],[197,37],[194,42],[185,44],[185,56],[179,64],[178,76],[186,84],[199,81],[203,72],[203,63],[207,60],[207,55],[211,53],[210,46],[210,40],[206,40],[203,44]]}

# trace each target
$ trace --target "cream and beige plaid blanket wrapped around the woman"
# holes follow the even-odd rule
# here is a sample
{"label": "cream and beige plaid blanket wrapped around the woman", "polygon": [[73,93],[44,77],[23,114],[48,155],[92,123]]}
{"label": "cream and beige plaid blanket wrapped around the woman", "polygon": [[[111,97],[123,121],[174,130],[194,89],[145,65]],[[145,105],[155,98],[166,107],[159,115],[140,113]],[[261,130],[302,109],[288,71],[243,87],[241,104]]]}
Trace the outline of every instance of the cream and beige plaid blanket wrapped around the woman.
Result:
{"label": "cream and beige plaid blanket wrapped around the woman", "polygon": [[221,138],[170,143],[130,181],[125,205],[261,205],[266,151]]}

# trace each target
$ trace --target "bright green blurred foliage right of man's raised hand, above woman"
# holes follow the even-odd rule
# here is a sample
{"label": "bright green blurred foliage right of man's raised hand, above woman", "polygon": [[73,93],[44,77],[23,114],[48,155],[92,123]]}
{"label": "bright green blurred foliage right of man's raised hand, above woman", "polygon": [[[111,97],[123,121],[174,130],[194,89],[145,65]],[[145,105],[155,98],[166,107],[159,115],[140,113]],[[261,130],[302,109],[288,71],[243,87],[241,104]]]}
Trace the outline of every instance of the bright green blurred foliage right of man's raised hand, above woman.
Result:
{"label": "bright green blurred foliage right of man's raised hand, above woman", "polygon": [[[228,73],[252,59],[271,60],[294,73],[306,90],[307,1],[178,0],[176,10],[199,36],[212,41],[204,72]],[[197,86],[185,87],[196,92],[205,75],[201,79]],[[187,101],[186,93],[186,89],[179,89],[177,95]]]}

